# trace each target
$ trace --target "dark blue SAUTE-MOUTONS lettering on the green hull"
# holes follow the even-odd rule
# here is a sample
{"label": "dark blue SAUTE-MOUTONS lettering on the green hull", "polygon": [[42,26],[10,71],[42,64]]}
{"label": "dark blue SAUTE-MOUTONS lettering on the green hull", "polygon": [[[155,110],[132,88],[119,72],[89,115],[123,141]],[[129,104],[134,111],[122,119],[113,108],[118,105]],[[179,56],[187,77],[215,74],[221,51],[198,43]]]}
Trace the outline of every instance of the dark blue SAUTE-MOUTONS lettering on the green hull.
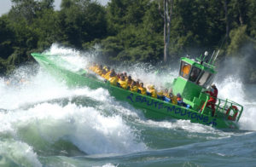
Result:
{"label": "dark blue SAUTE-MOUTONS lettering on the green hull", "polygon": [[193,121],[202,121],[204,124],[212,124],[216,126],[216,118],[213,118],[211,121],[209,120],[208,116],[202,115],[200,113],[191,112],[183,107],[177,106],[166,106],[164,102],[154,101],[153,99],[148,100],[146,97],[142,95],[134,95],[130,94],[127,96],[127,99],[130,100],[132,103],[144,103],[148,107],[154,107],[157,110],[165,111],[165,112],[172,112],[172,114],[177,115],[179,118],[182,117],[183,119],[190,119]]}

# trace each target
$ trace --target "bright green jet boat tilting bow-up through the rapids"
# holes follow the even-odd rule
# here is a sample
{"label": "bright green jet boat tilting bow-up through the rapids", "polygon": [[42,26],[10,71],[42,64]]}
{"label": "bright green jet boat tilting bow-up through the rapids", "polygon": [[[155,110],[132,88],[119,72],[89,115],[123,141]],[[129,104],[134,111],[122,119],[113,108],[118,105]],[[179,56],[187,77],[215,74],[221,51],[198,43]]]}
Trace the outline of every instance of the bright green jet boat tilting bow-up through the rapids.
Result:
{"label": "bright green jet boat tilting bow-up through the rapids", "polygon": [[39,53],[32,53],[32,56],[47,72],[68,86],[108,89],[110,95],[117,100],[126,101],[133,107],[142,109],[146,118],[187,119],[192,123],[205,124],[218,129],[239,128],[237,123],[243,111],[241,105],[228,99],[216,99],[214,117],[212,117],[212,108],[204,105],[210,98],[205,90],[212,84],[217,73],[214,63],[211,63],[212,58],[208,62],[205,61],[206,56],[202,58],[200,56],[196,60],[189,57],[181,58],[179,75],[172,83],[172,91],[174,95],[178,93],[182,95],[183,102],[189,105],[183,107],[113,86],[96,74],[78,69],[67,60],[63,60],[61,56]]}

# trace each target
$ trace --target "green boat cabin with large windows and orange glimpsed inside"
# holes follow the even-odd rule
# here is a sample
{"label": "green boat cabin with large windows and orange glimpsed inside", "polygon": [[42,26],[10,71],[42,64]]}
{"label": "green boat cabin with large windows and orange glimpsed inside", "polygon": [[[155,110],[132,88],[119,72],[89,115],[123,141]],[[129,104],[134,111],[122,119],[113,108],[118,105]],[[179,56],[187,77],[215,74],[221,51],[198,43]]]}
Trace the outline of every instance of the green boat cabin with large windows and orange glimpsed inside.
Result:
{"label": "green boat cabin with large windows and orange glimpsed inside", "polygon": [[212,84],[217,73],[214,68],[215,66],[201,59],[182,57],[178,77],[173,81],[173,93],[181,94],[187,102],[195,101],[201,95],[201,90]]}

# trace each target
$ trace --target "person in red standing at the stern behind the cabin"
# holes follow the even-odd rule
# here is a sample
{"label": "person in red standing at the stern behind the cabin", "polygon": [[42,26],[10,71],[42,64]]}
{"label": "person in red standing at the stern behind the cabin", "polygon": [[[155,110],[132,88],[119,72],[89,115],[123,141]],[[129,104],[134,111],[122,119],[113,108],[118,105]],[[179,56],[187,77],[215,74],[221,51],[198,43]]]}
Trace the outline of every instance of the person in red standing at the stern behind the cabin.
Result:
{"label": "person in red standing at the stern behind the cabin", "polygon": [[[212,107],[212,117],[215,114],[215,103],[217,101],[217,96],[218,96],[218,89],[216,87],[215,84],[212,84],[211,89],[209,91],[205,91],[205,93],[210,95],[210,99],[207,101],[207,106],[211,106]],[[206,103],[204,103],[204,105],[201,107],[201,111],[204,108]]]}

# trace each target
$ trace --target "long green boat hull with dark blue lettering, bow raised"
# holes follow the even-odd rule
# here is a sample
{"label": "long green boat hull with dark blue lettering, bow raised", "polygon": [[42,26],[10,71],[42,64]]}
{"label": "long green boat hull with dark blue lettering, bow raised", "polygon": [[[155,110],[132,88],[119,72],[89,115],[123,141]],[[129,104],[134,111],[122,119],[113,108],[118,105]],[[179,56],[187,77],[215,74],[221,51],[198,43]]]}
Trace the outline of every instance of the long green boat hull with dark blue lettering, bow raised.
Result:
{"label": "long green boat hull with dark blue lettering, bow raised", "polygon": [[61,66],[61,64],[68,64],[67,61],[62,60],[59,56],[48,56],[33,53],[32,56],[38,61],[40,66],[43,66],[51,75],[67,83],[71,87],[88,86],[90,89],[104,88],[108,89],[110,95],[114,96],[119,101],[126,101],[133,107],[143,109],[144,115],[152,119],[187,119],[192,123],[199,123],[210,125],[218,129],[238,129],[235,121],[230,121],[225,118],[212,118],[205,112],[199,113],[193,109],[173,105],[172,103],[161,101],[152,98],[148,95],[141,95],[131,92],[129,90],[120,89],[109,83],[105,83],[102,79],[96,78],[90,72],[79,70],[73,72]]}

